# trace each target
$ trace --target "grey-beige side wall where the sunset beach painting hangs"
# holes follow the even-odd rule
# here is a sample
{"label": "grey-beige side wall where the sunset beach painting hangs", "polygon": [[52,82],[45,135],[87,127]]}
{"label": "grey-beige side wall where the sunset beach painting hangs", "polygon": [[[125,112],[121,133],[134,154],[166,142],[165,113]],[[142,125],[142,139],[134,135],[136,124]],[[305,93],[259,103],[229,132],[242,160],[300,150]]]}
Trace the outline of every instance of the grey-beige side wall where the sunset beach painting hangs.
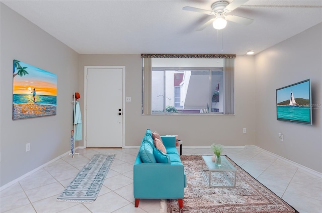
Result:
{"label": "grey-beige side wall where the sunset beach painting hangs", "polygon": [[[0,185],[3,186],[69,150],[71,101],[78,87],[75,80],[78,54],[2,3],[0,7]],[[57,115],[12,120],[14,59],[57,75]],[[26,143],[31,143],[29,152]]]}

